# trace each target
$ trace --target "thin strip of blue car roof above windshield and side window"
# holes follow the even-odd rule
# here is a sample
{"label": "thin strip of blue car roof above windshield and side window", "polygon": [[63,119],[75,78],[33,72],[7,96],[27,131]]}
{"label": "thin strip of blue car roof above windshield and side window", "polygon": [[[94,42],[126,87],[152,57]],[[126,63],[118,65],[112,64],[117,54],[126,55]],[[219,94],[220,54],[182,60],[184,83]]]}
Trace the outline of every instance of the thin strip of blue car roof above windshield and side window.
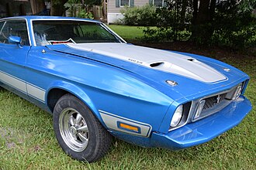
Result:
{"label": "thin strip of blue car roof above windshield and side window", "polygon": [[[35,20],[35,19],[81,19],[81,18],[75,18],[75,17],[64,17],[64,16],[43,16],[43,15],[22,15],[22,16],[13,16],[5,19],[27,19],[27,20]],[[0,19],[2,20],[2,19]],[[87,21],[94,21],[98,22],[92,19],[82,19]]]}

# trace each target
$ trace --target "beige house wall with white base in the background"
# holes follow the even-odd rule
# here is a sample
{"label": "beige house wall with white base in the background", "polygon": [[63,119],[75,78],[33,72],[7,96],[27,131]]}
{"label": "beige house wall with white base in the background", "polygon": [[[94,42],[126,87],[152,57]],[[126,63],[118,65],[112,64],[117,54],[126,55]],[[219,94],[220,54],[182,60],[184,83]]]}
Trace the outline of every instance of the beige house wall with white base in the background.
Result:
{"label": "beige house wall with white base in the background", "polygon": [[[134,0],[134,6],[143,6],[149,3],[149,0]],[[108,24],[120,22],[123,19],[120,9],[123,7],[116,7],[116,0],[108,0]]]}

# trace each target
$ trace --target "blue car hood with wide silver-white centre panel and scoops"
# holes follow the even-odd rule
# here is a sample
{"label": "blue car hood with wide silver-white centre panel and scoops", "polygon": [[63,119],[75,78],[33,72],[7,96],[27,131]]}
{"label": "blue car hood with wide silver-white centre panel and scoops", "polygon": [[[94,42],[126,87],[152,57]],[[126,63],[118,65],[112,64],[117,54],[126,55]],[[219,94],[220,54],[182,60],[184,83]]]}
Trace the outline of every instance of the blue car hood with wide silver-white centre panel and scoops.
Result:
{"label": "blue car hood with wide silver-white centre panel and scoops", "polygon": [[[82,43],[47,46],[61,53],[82,56],[128,70],[162,93],[178,99],[227,89],[247,75],[215,59],[126,43]],[[166,80],[174,80],[171,87]],[[171,90],[170,90],[171,89]],[[172,91],[172,92],[171,92]]]}

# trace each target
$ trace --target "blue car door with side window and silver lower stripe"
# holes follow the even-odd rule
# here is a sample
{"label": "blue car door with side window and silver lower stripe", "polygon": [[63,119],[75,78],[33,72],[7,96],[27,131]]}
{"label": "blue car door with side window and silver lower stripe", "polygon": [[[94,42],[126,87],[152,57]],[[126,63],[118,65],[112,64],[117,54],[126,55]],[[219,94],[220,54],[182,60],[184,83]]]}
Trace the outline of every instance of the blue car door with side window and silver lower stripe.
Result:
{"label": "blue car door with side window and silver lower stripe", "polygon": [[[26,20],[4,20],[0,27],[0,83],[26,97],[25,63],[30,49]],[[20,44],[9,42],[10,36],[19,36]]]}

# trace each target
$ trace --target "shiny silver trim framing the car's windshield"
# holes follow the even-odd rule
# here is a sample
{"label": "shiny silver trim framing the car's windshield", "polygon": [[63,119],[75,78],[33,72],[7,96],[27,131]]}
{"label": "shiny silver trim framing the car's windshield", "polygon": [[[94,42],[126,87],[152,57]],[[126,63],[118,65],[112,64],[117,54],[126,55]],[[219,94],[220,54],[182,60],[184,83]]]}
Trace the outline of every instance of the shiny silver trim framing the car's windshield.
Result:
{"label": "shiny silver trim framing the car's windshield", "polygon": [[106,29],[109,33],[111,33],[113,36],[118,38],[120,43],[127,43],[123,38],[121,38],[116,32],[113,32],[112,29],[109,29],[108,26],[106,26],[104,23],[95,21],[95,20],[86,20],[86,19],[30,19],[30,25],[32,26],[32,39],[33,39],[33,46],[36,46],[36,39],[35,39],[35,34],[33,30],[33,22],[34,21],[81,21],[81,22],[94,22],[94,23],[99,23],[104,29]]}

